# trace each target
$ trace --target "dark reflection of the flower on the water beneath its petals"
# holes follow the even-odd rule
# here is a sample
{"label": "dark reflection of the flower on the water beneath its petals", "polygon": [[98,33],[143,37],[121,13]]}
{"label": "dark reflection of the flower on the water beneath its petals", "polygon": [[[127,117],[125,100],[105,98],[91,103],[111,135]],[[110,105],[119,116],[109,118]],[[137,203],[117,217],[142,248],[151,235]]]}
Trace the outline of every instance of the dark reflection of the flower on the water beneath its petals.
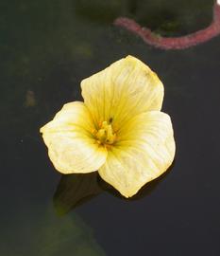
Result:
{"label": "dark reflection of the flower on the water beneath its petals", "polygon": [[161,181],[170,174],[174,165],[175,161],[164,174],[144,185],[140,192],[128,199],[105,182],[98,172],[62,175],[54,194],[54,207],[59,215],[64,215],[77,206],[88,202],[101,192],[110,192],[113,196],[126,201],[139,200],[153,192]]}

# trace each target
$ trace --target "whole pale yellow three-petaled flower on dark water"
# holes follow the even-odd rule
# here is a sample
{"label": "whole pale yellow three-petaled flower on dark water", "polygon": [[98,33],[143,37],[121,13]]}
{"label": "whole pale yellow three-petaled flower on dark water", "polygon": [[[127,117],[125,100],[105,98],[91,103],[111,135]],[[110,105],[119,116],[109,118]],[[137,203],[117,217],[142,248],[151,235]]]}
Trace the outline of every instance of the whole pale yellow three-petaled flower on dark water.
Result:
{"label": "whole pale yellow three-petaled flower on dark water", "polygon": [[65,104],[41,129],[62,174],[90,173],[130,197],[163,174],[175,155],[171,119],[161,112],[163,85],[127,56],[81,82],[84,102]]}

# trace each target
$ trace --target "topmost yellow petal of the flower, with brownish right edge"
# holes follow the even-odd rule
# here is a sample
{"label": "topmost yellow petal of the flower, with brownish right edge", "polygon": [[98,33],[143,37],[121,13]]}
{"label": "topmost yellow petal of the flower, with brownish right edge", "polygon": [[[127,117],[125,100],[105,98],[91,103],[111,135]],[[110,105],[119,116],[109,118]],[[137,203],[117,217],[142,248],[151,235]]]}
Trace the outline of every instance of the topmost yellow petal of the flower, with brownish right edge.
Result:
{"label": "topmost yellow petal of the flower, with brownish right edge", "polygon": [[82,96],[96,123],[121,125],[150,110],[161,110],[163,85],[140,60],[127,56],[81,82]]}

